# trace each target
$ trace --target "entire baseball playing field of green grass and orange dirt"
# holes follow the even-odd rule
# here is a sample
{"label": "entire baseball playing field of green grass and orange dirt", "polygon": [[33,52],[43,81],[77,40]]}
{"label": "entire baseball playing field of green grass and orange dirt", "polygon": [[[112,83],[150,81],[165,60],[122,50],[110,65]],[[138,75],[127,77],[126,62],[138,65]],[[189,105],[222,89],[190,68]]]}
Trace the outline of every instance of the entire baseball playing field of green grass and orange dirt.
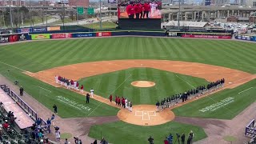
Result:
{"label": "entire baseball playing field of green grass and orange dirt", "polygon": [[[194,142],[200,143],[207,137],[204,128],[176,118],[232,120],[241,114],[256,100],[255,55],[255,43],[226,40],[138,37],[46,40],[1,46],[0,74],[11,82],[18,80],[26,93],[48,109],[52,110],[56,104],[61,118],[118,115],[117,122],[91,126],[88,132],[91,138],[104,136],[111,143],[140,144],[152,135],[155,143],[162,143],[170,133],[188,134],[193,130]],[[54,75],[78,80],[86,91],[93,88],[95,97],[86,104],[86,93],[55,84]],[[192,99],[162,114],[150,115],[149,110],[146,118],[142,116],[143,110],[142,115],[137,114],[136,108],[140,106],[154,107],[158,100],[221,78],[226,79],[225,86],[214,94]],[[154,82],[154,86],[131,85],[136,81]],[[110,94],[128,98],[133,102],[133,112],[123,111],[120,117],[122,108],[108,101]],[[165,121],[158,123],[160,117]]]}

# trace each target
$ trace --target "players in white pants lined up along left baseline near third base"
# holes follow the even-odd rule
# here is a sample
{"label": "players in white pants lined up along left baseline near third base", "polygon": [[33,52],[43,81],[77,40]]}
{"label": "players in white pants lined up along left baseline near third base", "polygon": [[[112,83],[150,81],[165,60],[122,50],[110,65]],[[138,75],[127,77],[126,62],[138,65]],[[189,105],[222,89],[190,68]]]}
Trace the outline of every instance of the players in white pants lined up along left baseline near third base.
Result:
{"label": "players in white pants lined up along left baseline near third base", "polygon": [[[55,83],[58,83],[61,86],[66,86],[67,89],[79,90],[78,81],[74,81],[72,79],[64,78],[57,75],[55,75],[54,79],[55,79]],[[80,92],[83,93],[83,90],[84,90],[84,86],[81,85]],[[92,98],[94,98],[94,89],[90,89],[90,95]]]}

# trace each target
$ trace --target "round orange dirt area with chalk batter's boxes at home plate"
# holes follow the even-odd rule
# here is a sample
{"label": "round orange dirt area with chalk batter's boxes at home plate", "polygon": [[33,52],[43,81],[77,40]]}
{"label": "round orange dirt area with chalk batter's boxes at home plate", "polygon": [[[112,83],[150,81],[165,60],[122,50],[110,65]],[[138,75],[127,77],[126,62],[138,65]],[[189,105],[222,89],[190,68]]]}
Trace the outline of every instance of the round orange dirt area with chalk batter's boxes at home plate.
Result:
{"label": "round orange dirt area with chalk batter's boxes at home plate", "polygon": [[134,125],[155,126],[172,121],[175,115],[167,109],[156,112],[154,105],[137,105],[133,106],[132,112],[127,109],[119,110],[118,118]]}

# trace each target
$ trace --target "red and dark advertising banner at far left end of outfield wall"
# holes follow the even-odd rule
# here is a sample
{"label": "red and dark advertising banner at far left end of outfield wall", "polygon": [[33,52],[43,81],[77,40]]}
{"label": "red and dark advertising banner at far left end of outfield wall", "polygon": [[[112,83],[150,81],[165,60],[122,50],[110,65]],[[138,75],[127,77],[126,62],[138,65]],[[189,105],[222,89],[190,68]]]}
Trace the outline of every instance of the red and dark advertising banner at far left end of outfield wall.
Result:
{"label": "red and dark advertising banner at far left end of outfield wall", "polygon": [[0,36],[0,43],[17,41],[26,41],[26,34],[8,34]]}

